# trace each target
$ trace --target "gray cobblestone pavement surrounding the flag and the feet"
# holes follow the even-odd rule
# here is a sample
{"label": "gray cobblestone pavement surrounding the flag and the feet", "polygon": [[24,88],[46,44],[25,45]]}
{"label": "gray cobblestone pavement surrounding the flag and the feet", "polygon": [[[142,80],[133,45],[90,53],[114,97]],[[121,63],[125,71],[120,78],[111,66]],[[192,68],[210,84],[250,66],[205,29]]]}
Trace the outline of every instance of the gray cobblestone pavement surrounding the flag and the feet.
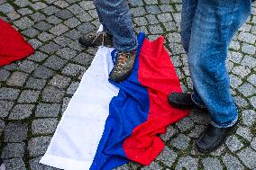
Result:
{"label": "gray cobblestone pavement surrounding the flag and the feet", "polygon": [[[181,0],[132,0],[130,5],[136,32],[145,31],[150,39],[165,36],[182,87],[190,92],[179,35]],[[250,18],[233,38],[227,61],[240,112],[230,138],[212,154],[198,153],[194,143],[208,118],[192,111],[162,135],[166,148],[151,166],[132,163],[119,170],[256,168],[256,4],[252,6]],[[38,162],[96,53],[78,44],[82,34],[99,26],[95,6],[82,0],[0,0],[0,16],[36,49],[29,58],[0,68],[1,156],[8,170],[54,169]]]}

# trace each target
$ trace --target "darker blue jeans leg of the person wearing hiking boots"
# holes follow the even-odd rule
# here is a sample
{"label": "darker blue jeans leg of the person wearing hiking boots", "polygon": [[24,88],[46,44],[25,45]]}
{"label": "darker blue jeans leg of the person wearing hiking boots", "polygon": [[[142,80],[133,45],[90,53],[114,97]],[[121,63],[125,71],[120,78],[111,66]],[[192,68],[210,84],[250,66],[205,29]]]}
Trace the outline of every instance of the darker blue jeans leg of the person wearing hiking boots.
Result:
{"label": "darker blue jeans leg of the person wearing hiking boots", "polygon": [[99,21],[104,31],[113,35],[114,49],[137,49],[137,37],[133,31],[132,15],[126,0],[94,0]]}

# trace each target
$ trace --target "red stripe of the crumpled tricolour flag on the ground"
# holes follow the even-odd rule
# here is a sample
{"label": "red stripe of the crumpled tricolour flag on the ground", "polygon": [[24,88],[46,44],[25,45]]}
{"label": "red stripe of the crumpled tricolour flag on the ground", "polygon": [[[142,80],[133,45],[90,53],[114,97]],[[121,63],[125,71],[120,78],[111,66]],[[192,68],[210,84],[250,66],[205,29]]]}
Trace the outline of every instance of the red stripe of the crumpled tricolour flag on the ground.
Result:
{"label": "red stripe of the crumpled tricolour flag on the ground", "polygon": [[167,127],[187,116],[188,111],[172,108],[168,103],[170,92],[181,92],[178,76],[169,54],[163,46],[163,37],[144,40],[139,58],[139,81],[150,95],[148,120],[133,130],[123,142],[126,156],[142,165],[150,165],[164,148],[159,134]]}

